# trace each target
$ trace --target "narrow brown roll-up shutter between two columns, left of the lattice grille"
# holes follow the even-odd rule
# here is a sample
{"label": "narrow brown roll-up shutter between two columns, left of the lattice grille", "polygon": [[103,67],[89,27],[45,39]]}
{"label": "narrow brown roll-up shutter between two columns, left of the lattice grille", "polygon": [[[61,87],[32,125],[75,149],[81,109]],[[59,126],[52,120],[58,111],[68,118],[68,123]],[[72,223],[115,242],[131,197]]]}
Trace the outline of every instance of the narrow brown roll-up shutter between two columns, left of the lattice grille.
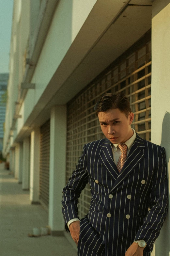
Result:
{"label": "narrow brown roll-up shutter between two columns, left of the lattice grille", "polygon": [[39,201],[48,210],[50,163],[50,120],[40,127]]}

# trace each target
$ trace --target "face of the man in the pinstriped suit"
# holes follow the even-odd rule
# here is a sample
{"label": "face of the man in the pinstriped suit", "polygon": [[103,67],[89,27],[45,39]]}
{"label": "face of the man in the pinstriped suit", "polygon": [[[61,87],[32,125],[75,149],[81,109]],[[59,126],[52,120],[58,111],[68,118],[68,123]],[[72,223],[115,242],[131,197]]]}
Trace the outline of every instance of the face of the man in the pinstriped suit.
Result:
{"label": "face of the man in the pinstriped suit", "polygon": [[118,108],[98,113],[101,130],[113,144],[124,143],[133,135],[131,123],[134,114],[128,118]]}

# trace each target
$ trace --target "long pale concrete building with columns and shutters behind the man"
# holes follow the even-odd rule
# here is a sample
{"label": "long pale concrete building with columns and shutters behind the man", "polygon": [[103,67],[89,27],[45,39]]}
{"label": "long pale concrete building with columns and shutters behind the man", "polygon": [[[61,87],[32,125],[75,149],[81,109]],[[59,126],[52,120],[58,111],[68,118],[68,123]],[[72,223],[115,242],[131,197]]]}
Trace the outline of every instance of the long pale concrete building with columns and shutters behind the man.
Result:
{"label": "long pale concrete building with columns and shutters behind the man", "polygon": [[[104,92],[128,95],[132,127],[169,166],[169,13],[170,0],[14,0],[3,154],[53,235],[83,145],[103,136],[93,107]],[[80,217],[89,204],[86,186]],[[169,256],[169,216],[152,256]]]}

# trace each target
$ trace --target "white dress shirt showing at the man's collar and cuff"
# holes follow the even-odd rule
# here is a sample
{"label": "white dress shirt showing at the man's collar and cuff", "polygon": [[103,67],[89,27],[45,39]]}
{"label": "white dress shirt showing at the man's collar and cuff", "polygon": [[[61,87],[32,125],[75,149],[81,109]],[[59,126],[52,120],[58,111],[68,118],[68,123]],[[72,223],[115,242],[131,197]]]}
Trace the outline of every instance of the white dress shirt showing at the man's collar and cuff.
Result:
{"label": "white dress shirt showing at the man's collar and cuff", "polygon": [[[134,142],[134,140],[135,140],[135,138],[136,138],[135,130],[132,129],[132,131],[133,131],[133,135],[131,136],[130,139],[128,139],[128,140],[124,143],[124,144],[126,144],[126,146],[128,147],[127,156],[128,156],[128,154],[129,154],[129,151],[130,151],[130,149],[131,149],[131,146],[133,145],[133,142]],[[119,147],[117,147],[118,145],[119,145],[119,143],[118,143],[118,144],[113,144],[113,146],[112,146],[113,159],[114,159],[114,162],[115,162],[116,165],[117,165],[117,162],[118,162],[118,160],[119,160],[119,157],[121,156],[121,151],[120,151]],[[68,228],[69,228],[70,224],[71,224],[72,222],[76,221],[76,220],[80,221],[78,218],[70,219],[70,220],[67,222]]]}

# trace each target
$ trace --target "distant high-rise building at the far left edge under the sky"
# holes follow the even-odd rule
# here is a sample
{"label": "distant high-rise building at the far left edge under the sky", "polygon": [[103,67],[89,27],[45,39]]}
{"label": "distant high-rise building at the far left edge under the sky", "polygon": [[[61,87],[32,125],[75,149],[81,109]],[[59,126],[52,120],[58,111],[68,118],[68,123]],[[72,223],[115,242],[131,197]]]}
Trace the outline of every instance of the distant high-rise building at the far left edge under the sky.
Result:
{"label": "distant high-rise building at the far left edge under the sky", "polygon": [[8,76],[8,73],[0,74],[0,152],[3,148]]}

